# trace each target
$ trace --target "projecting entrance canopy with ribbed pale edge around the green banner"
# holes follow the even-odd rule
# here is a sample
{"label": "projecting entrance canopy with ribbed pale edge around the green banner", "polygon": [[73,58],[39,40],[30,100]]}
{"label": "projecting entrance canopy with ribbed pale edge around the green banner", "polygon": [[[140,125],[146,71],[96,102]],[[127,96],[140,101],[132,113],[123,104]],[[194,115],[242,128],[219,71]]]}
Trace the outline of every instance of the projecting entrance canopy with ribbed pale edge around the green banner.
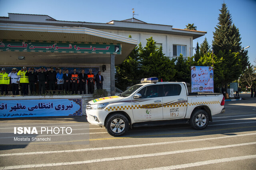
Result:
{"label": "projecting entrance canopy with ribbed pale edge around the green banner", "polygon": [[[121,64],[138,44],[136,39],[86,27],[20,23],[0,23],[0,39],[121,44],[122,54],[116,55],[116,65]],[[25,56],[26,60],[17,60],[18,56]],[[110,64],[110,54],[1,51],[0,57],[0,65]]]}

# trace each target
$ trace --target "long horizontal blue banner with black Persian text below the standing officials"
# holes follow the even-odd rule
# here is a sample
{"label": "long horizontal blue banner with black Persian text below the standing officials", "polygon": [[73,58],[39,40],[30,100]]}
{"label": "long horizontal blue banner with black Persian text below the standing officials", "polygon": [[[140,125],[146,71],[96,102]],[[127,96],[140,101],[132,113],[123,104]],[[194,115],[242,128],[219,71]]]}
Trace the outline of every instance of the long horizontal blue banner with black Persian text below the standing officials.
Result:
{"label": "long horizontal blue banner with black Persian text below the standing officials", "polygon": [[82,115],[82,99],[0,100],[0,118]]}

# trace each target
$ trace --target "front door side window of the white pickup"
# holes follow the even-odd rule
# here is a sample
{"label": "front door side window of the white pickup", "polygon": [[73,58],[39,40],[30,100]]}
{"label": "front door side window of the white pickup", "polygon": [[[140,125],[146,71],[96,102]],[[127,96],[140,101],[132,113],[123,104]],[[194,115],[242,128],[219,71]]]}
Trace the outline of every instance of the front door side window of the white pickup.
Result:
{"label": "front door side window of the white pickup", "polygon": [[139,92],[142,98],[156,98],[162,96],[162,90],[159,85],[151,85],[142,88]]}

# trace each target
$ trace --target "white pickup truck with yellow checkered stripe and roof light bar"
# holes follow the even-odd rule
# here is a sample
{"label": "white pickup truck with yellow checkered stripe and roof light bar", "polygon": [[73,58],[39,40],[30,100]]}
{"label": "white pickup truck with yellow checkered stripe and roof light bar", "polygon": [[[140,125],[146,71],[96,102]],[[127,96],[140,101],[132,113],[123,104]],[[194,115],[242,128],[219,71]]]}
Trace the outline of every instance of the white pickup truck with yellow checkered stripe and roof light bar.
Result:
{"label": "white pickup truck with yellow checkered stripe and roof light bar", "polygon": [[148,78],[120,94],[91,100],[86,106],[89,123],[106,127],[112,136],[138,126],[189,122],[204,129],[212,115],[224,113],[221,93],[188,93],[185,82],[158,82]]}

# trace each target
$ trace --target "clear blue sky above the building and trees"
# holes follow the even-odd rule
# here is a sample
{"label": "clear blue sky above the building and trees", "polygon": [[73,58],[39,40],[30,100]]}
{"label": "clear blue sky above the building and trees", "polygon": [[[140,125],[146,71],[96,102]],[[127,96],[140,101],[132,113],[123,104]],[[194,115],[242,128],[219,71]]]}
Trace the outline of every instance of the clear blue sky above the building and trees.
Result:
{"label": "clear blue sky above the building and trees", "polygon": [[[0,16],[8,13],[48,15],[55,20],[106,23],[134,18],[146,23],[172,25],[184,29],[194,23],[206,35],[193,41],[199,45],[206,37],[212,45],[222,3],[239,29],[242,47],[250,46],[249,61],[256,60],[256,0],[0,0]],[[195,53],[195,51],[194,51]]]}

